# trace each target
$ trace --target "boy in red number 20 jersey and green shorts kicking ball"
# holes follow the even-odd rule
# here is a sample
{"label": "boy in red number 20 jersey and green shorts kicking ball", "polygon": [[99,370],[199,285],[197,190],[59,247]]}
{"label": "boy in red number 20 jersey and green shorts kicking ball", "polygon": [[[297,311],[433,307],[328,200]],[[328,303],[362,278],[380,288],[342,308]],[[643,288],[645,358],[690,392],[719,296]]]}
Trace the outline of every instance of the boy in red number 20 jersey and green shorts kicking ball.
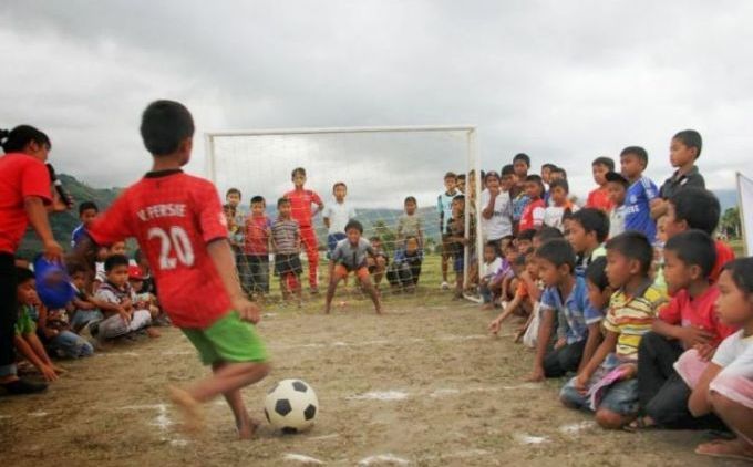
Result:
{"label": "boy in red number 20 jersey and green shorts kicking ball", "polygon": [[[202,425],[200,403],[224,395],[240,438],[256,422],[240,388],[269,372],[267,352],[251,323],[259,308],[249,302],[235,272],[219,196],[212,183],[184,174],[190,159],[194,121],[177,102],[156,101],[142,115],[141,134],[154,164],[89,229],[101,245],[135,237],[158,284],[159,303],[214,374],[187,388],[171,387],[186,427]],[[82,249],[87,248],[85,241]],[[81,251],[81,250],[80,250]]]}

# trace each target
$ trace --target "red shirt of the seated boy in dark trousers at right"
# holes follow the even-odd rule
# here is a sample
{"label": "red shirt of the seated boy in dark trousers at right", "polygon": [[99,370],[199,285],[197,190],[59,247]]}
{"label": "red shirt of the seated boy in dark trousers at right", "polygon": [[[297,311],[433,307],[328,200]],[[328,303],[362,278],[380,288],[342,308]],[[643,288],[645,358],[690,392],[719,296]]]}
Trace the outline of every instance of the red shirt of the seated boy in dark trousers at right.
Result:
{"label": "red shirt of the seated boy in dark trousers at right", "polygon": [[670,302],[659,310],[659,319],[673,325],[702,328],[714,334],[711,345],[719,345],[724,338],[736,331],[722,324],[714,310],[719,289],[711,286],[695,300],[690,298],[687,289],[678,291]]}

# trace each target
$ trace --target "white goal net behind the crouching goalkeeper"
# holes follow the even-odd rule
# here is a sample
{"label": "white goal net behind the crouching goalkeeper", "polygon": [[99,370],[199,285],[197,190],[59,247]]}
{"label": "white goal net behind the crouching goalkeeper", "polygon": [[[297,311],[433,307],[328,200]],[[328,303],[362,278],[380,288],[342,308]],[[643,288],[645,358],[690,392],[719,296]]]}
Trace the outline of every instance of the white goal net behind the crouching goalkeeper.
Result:
{"label": "white goal net behind the crouching goalkeeper", "polygon": [[[332,247],[333,239],[342,237],[334,236],[331,229],[337,230],[338,226],[334,224],[338,224],[337,219],[342,219],[343,206],[347,206],[349,209],[344,211],[350,212],[348,217],[362,224],[363,238],[372,241],[378,251],[381,251],[380,257],[383,259],[370,259],[369,271],[383,295],[405,289],[424,293],[435,291],[445,280],[441,257],[442,234],[446,234],[447,219],[445,216],[444,225],[441,226],[437,201],[445,191],[446,173],[452,172],[464,177],[466,209],[463,222],[470,241],[460,246],[464,259],[461,274],[466,297],[473,295],[470,290],[477,269],[471,264],[479,263],[481,255],[476,255],[476,251],[483,251],[482,235],[477,230],[479,222],[473,219],[477,217],[475,212],[478,211],[481,188],[474,127],[212,132],[206,134],[206,159],[207,175],[216,184],[220,196],[225,196],[231,188],[240,191],[233,238],[236,241],[236,259],[244,289],[249,293],[267,293],[271,297],[279,297],[288,286],[276,271],[277,262],[283,256],[277,255],[279,251],[275,250],[276,247],[268,251],[269,272],[265,283],[265,278],[260,274],[266,272],[259,270],[256,258],[264,253],[259,241],[260,230],[249,227],[256,224],[248,220],[251,199],[256,196],[264,197],[265,214],[275,222],[278,219],[278,199],[293,190],[292,172],[296,168],[306,169],[303,189],[318,194],[324,205],[324,211],[311,218],[311,228],[308,229],[303,226],[306,220],[300,221],[300,217],[306,218],[307,215],[296,210],[301,208],[302,203],[310,205],[311,210],[316,211],[318,200],[308,193],[291,204],[292,217],[305,227],[303,230],[309,230],[309,241],[303,242],[298,255],[302,289],[306,291],[310,289],[309,286],[314,284],[319,284],[322,291],[327,288],[328,253],[331,251],[328,243]],[[471,181],[470,178],[474,180]],[[344,184],[347,187],[344,205],[336,201],[336,184]],[[470,194],[472,188],[475,188],[475,195]],[[341,193],[341,188],[339,191]],[[415,267],[405,266],[405,252],[414,259],[414,242],[410,238],[414,236],[414,222],[401,224],[401,217],[406,214],[405,201],[409,197],[414,198],[416,204],[411,219],[419,218],[421,221],[422,238],[417,241],[422,259],[420,272]],[[331,229],[324,225],[326,217],[330,220]],[[283,229],[276,230],[274,236],[282,234]],[[302,234],[303,240],[307,240],[307,232]],[[316,237],[316,248],[310,245],[310,237]],[[446,264],[450,288],[456,286],[455,269],[458,267],[458,246],[453,248],[455,258],[451,257]],[[311,268],[312,262],[318,263],[316,272]],[[415,266],[416,260],[408,262]]]}

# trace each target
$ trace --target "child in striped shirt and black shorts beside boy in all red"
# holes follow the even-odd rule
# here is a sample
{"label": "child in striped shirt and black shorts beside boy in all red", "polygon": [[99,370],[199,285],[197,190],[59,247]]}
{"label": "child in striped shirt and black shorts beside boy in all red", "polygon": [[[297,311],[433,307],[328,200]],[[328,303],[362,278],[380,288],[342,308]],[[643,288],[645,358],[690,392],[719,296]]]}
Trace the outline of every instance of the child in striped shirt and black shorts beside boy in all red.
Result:
{"label": "child in striped shirt and black shorts beside boy in all red", "polygon": [[272,224],[272,250],[275,251],[275,273],[280,277],[282,298],[289,299],[292,294],[301,305],[301,231],[298,222],[292,219],[290,200],[280,198],[277,200],[279,217]]}

